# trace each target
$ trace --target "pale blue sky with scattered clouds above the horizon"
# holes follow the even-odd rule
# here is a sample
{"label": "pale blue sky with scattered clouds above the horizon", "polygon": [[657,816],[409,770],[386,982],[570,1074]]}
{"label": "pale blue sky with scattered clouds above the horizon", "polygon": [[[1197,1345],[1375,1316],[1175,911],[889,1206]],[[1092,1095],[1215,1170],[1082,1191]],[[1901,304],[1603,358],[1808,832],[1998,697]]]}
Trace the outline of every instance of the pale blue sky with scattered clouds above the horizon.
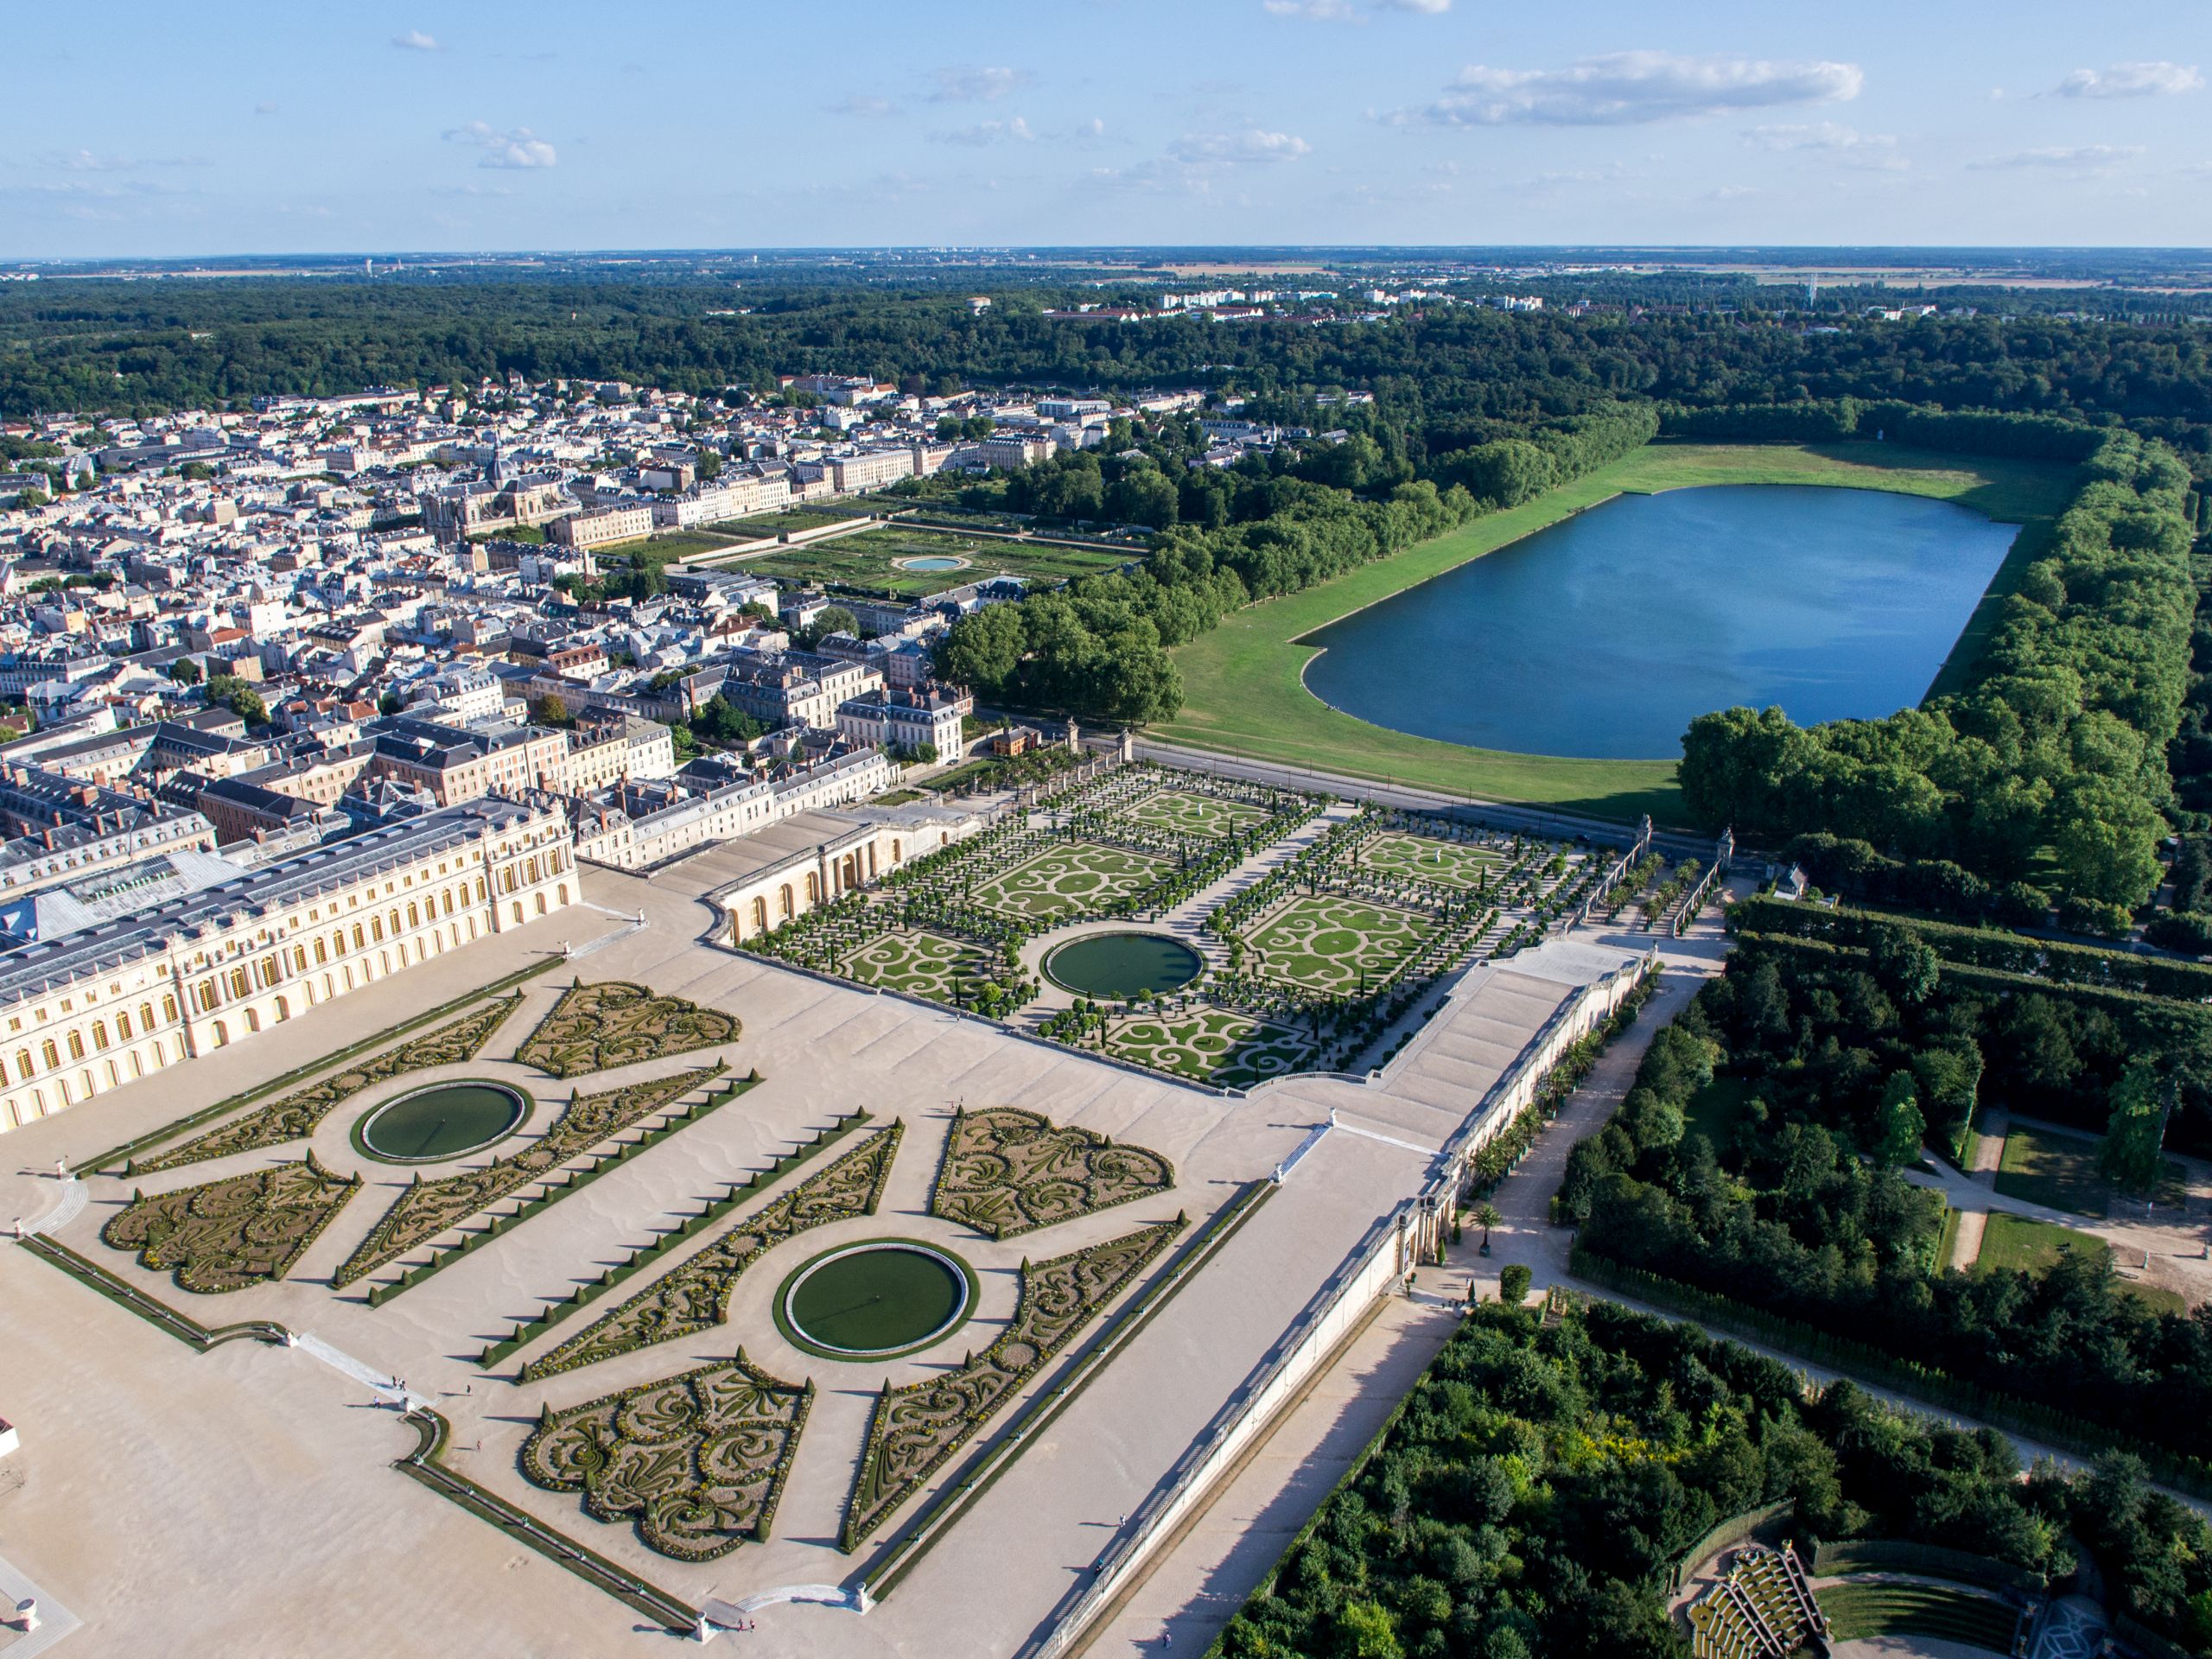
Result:
{"label": "pale blue sky with scattered clouds above the horizon", "polygon": [[0,0],[0,259],[2212,226],[2212,0]]}

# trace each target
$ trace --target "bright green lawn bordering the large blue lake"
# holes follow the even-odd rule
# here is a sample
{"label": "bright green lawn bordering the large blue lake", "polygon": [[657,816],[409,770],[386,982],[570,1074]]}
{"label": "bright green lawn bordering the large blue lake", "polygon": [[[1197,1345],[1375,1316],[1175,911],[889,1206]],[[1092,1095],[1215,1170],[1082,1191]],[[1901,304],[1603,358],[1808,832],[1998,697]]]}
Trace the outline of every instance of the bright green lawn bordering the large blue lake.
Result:
{"label": "bright green lawn bordering the large blue lake", "polygon": [[[1409,783],[1447,794],[1493,801],[1537,801],[1601,818],[1632,821],[1650,812],[1681,823],[1672,761],[1582,761],[1551,754],[1506,754],[1407,737],[1343,714],[1305,690],[1301,675],[1314,657],[1301,637],[1387,599],[1506,542],[1555,524],[1621,493],[1655,493],[1699,484],[1838,484],[1933,495],[2026,524],[2044,535],[2064,504],[2070,467],[1940,456],[1898,445],[1694,445],[1657,442],[1604,467],[1542,500],[1478,518],[1433,542],[1327,582],[1305,593],[1241,611],[1212,633],[1177,648],[1183,670],[1183,710],[1155,726],[1152,737],[1203,750],[1250,754],[1287,765],[1327,768],[1363,779]],[[2028,535],[2022,538],[2031,540]],[[2011,591],[2026,560],[2015,555],[1997,573]],[[1975,611],[1962,635],[1969,650],[1989,626],[1991,602]],[[1564,664],[1562,664],[1564,670]]]}

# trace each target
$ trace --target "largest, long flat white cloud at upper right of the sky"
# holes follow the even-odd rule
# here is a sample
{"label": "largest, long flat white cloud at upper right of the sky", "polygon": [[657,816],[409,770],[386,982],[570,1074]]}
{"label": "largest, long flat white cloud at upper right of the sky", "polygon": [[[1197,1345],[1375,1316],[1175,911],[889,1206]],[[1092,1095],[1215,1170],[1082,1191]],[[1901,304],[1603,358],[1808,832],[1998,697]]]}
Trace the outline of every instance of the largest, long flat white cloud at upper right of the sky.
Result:
{"label": "largest, long flat white cloud at upper right of the sky", "polygon": [[1834,104],[1858,97],[1863,84],[1858,64],[1617,51],[1566,69],[1469,64],[1433,104],[1391,119],[1431,126],[1632,126],[1741,108]]}

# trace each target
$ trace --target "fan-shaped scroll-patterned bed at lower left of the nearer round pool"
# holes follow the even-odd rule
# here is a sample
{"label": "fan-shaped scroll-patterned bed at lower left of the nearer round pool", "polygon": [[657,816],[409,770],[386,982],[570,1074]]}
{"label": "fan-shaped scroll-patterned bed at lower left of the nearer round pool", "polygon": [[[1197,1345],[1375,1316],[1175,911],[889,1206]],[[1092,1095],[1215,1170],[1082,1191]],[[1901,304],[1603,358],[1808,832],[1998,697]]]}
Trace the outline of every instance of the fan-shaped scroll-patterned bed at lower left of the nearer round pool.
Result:
{"label": "fan-shaped scroll-patterned bed at lower left of the nearer round pool", "polygon": [[555,1411],[522,1444],[522,1473],[582,1491],[593,1520],[635,1517],[646,1548],[710,1562],[765,1544],[814,1385],[792,1387],[745,1358]]}

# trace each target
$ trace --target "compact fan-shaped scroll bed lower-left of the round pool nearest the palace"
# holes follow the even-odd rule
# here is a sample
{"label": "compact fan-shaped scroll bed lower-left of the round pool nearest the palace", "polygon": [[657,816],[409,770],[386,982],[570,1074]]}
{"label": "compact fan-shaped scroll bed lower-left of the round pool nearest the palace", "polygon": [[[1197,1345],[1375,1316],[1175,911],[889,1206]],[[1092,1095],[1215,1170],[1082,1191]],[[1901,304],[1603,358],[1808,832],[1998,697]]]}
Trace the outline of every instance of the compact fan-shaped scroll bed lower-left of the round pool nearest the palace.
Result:
{"label": "compact fan-shaped scroll bed lower-left of the round pool nearest the palace", "polygon": [[243,1290],[283,1279],[356,1186],[358,1175],[332,1175],[310,1152],[303,1164],[276,1164],[153,1199],[135,1192],[100,1237],[115,1250],[137,1250],[142,1267],[175,1267],[179,1290],[204,1296]]}

